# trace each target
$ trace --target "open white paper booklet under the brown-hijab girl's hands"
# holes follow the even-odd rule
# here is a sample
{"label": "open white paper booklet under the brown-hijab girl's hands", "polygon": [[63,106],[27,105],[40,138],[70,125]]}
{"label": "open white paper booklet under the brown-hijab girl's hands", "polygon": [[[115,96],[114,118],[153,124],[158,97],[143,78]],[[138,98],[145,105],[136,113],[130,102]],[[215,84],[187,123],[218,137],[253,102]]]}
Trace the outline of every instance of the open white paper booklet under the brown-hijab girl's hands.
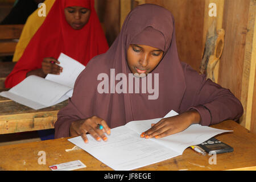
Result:
{"label": "open white paper booklet under the brown-hijab girl's hands", "polygon": [[[166,117],[176,115],[171,111]],[[108,141],[98,142],[87,135],[89,142],[84,143],[81,137],[68,139],[95,158],[114,170],[127,171],[158,163],[182,155],[185,148],[203,143],[217,134],[229,132],[212,127],[191,125],[186,130],[161,139],[144,139],[140,135],[150,129],[151,123],[162,118],[145,121],[131,121],[125,126],[111,130]]]}

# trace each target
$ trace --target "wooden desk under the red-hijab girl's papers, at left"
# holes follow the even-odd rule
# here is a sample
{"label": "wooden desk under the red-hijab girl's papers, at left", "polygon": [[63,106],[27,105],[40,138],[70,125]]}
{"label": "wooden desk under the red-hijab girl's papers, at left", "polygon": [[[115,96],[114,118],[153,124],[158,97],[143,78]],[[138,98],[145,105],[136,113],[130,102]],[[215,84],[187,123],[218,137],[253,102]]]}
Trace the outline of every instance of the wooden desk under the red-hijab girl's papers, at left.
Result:
{"label": "wooden desk under the red-hijab girl's papers, at left", "polygon": [[34,110],[8,98],[0,97],[0,134],[53,129],[57,113],[68,101]]}

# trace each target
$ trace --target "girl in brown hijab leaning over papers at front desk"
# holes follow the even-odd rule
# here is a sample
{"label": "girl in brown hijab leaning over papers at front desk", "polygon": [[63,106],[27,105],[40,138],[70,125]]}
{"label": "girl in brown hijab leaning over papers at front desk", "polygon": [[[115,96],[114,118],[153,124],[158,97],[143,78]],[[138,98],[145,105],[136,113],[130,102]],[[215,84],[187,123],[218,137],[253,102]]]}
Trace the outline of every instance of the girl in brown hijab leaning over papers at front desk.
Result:
{"label": "girl in brown hijab leaning over papers at front desk", "polygon": [[[58,113],[55,138],[81,135],[88,142],[86,133],[90,133],[96,140],[106,141],[105,133],[110,134],[111,128],[163,118],[175,110],[179,115],[162,119],[141,135],[162,138],[193,123],[209,126],[237,120],[243,113],[241,102],[228,89],[180,62],[174,18],[163,7],[146,4],[135,8],[109,51],[92,60],[77,78],[69,104]],[[133,74],[145,76],[148,85],[152,81],[159,93],[153,97],[152,92],[145,92],[144,78],[130,79]],[[154,79],[150,79],[152,75]],[[136,79],[141,81],[139,92],[130,84]]]}

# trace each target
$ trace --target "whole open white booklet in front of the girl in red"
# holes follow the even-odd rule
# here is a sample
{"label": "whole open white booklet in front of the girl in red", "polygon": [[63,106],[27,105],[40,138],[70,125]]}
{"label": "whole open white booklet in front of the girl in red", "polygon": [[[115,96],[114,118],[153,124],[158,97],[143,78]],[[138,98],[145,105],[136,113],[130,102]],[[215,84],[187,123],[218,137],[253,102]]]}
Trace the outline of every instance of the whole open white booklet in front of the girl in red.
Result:
{"label": "whole open white booklet in front of the girl in red", "polygon": [[76,78],[85,69],[78,61],[61,53],[59,58],[63,72],[60,75],[48,74],[46,78],[29,76],[0,96],[10,98],[32,109],[53,106],[72,97]]}

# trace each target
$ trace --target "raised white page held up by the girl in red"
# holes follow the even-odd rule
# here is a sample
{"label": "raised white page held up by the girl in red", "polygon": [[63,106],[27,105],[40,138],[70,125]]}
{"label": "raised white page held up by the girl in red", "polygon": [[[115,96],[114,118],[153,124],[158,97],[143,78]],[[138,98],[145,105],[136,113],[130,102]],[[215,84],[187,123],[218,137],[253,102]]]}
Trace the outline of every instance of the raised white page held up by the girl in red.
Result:
{"label": "raised white page held up by the girl in red", "polygon": [[74,88],[76,78],[85,69],[85,66],[75,59],[64,55],[64,53],[60,54],[58,61],[60,64],[57,65],[63,68],[63,72],[61,72],[60,75],[48,74],[46,76],[46,80],[51,80],[59,84]]}

